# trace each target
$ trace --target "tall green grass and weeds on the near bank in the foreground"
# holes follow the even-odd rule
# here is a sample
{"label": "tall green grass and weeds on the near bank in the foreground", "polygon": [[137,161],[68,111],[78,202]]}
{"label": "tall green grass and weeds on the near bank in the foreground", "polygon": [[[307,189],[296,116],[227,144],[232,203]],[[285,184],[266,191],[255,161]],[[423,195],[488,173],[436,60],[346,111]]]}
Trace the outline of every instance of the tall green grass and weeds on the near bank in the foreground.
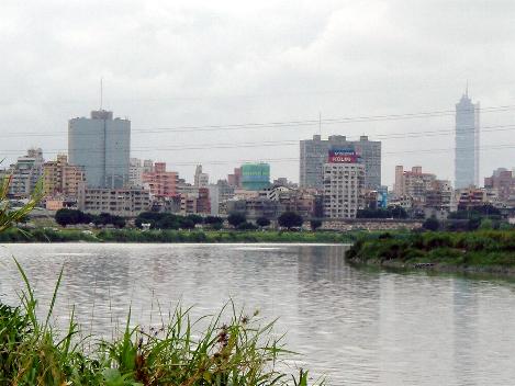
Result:
{"label": "tall green grass and weeds on the near bank in the foreground", "polygon": [[119,339],[80,339],[74,311],[66,331],[51,323],[63,271],[43,321],[33,288],[18,268],[25,283],[21,306],[0,305],[2,385],[307,385],[306,372],[292,376],[279,370],[293,353],[284,350],[282,337],[275,337],[273,322],[261,326],[257,314],[237,313],[232,303],[211,319],[194,321],[190,308],[177,307],[146,330],[131,327],[128,314]]}

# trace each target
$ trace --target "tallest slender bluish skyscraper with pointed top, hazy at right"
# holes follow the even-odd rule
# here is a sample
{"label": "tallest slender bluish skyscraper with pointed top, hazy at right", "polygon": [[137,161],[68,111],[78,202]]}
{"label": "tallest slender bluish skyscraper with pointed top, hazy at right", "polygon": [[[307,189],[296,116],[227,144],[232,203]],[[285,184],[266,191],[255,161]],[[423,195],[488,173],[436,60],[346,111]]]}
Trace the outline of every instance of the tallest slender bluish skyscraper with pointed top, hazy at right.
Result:
{"label": "tallest slender bluish skyscraper with pointed top, hazy at right", "polygon": [[479,184],[479,102],[473,104],[467,90],[456,104],[456,189]]}

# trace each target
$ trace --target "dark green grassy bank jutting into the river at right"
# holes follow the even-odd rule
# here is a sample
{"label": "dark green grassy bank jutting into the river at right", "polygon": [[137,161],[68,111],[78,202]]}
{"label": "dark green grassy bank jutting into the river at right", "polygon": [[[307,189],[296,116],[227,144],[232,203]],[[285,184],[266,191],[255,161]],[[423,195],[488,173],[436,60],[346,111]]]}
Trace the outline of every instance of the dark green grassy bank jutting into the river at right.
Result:
{"label": "dark green grassy bank jutting into the river at right", "polygon": [[360,235],[346,260],[381,268],[515,276],[515,231]]}

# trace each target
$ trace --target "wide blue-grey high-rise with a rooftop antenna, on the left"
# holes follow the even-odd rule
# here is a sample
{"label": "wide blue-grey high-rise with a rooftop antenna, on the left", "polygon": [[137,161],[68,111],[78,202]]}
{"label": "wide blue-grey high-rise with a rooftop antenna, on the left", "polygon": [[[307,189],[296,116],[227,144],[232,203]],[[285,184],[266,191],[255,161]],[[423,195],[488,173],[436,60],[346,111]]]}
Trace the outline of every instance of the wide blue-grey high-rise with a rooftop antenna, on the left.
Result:
{"label": "wide blue-grey high-rise with a rooftop antenna, on the left", "polygon": [[81,166],[88,186],[117,189],[128,184],[131,121],[105,110],[68,123],[68,156]]}

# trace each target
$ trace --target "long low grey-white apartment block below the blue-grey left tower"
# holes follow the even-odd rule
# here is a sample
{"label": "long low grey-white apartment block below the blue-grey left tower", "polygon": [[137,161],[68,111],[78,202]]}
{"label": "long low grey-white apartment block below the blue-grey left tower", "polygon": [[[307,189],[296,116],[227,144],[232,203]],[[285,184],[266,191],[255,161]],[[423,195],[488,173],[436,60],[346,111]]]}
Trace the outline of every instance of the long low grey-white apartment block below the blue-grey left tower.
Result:
{"label": "long low grey-white apartment block below the blue-grey left tower", "polygon": [[150,193],[143,188],[88,188],[79,185],[77,206],[90,214],[109,213],[123,217],[136,217],[150,207]]}

